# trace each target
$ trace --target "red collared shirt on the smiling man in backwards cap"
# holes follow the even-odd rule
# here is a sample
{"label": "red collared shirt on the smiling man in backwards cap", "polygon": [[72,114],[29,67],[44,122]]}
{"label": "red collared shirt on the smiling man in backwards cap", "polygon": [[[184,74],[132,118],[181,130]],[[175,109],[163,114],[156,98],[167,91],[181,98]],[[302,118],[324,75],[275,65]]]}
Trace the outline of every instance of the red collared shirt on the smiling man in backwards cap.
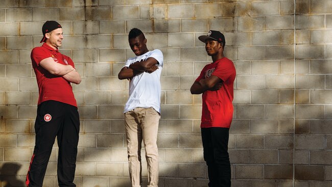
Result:
{"label": "red collared shirt on the smiling man in backwards cap", "polygon": [[46,43],[36,47],[31,52],[32,67],[36,74],[39,99],[38,105],[44,101],[54,100],[77,107],[72,85],[62,76],[56,76],[48,72],[39,65],[40,61],[52,57],[56,63],[74,66],[74,62],[69,57],[62,55],[58,50],[54,50]]}

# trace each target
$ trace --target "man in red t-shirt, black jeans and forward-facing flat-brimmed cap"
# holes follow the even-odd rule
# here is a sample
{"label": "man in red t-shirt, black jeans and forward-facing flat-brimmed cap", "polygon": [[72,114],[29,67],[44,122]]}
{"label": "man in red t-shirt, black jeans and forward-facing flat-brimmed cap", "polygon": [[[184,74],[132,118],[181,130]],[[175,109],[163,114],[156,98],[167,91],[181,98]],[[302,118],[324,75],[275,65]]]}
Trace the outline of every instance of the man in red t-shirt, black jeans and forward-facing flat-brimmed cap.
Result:
{"label": "man in red t-shirt, black jeans and forward-facing flat-brimmed cap", "polygon": [[213,61],[205,65],[190,89],[192,94],[203,93],[201,133],[208,186],[230,186],[228,136],[233,116],[235,67],[224,56],[226,42],[221,32],[210,30],[198,39],[205,42],[205,50]]}

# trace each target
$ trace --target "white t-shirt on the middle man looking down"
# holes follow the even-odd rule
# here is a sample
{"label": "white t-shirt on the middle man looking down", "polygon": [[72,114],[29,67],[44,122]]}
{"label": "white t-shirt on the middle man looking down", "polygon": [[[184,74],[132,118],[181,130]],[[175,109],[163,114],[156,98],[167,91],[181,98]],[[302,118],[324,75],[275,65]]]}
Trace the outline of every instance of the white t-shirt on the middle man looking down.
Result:
{"label": "white t-shirt on the middle man looking down", "polygon": [[129,83],[129,98],[125,105],[125,112],[128,112],[136,107],[149,108],[153,107],[160,113],[160,75],[163,65],[163,55],[160,50],[149,51],[143,55],[129,58],[124,67],[129,67],[130,64],[137,61],[146,60],[147,58],[154,58],[158,61],[156,64],[158,69],[151,74],[142,72],[132,78]]}

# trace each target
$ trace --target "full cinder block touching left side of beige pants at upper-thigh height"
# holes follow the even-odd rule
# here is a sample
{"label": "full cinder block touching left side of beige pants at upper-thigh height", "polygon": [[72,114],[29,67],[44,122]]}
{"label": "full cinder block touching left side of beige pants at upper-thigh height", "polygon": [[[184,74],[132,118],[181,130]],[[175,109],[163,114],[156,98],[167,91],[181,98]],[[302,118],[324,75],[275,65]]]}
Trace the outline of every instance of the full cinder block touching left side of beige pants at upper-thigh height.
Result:
{"label": "full cinder block touching left side of beige pants at upper-thigh height", "polygon": [[98,134],[97,147],[99,148],[123,148],[124,147],[123,134]]}

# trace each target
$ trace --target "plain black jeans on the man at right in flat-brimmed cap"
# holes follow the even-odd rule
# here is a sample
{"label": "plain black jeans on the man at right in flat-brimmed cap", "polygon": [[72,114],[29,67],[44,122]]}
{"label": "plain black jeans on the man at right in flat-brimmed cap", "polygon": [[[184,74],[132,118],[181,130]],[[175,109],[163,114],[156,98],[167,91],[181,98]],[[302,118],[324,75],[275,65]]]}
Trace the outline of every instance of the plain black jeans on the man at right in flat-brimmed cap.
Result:
{"label": "plain black jeans on the man at right in flat-brimmed cap", "polygon": [[209,187],[230,186],[230,162],[228,155],[228,128],[201,128]]}

